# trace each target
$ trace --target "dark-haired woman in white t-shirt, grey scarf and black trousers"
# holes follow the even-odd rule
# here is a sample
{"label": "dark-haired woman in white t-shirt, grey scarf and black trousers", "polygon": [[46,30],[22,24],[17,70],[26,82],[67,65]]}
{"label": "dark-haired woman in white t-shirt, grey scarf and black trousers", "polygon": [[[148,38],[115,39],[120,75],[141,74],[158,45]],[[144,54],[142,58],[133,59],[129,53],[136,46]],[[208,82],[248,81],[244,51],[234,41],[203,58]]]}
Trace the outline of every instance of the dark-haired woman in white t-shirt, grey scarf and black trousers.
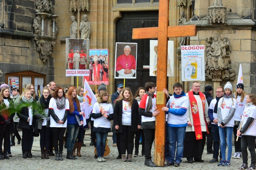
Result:
{"label": "dark-haired woman in white t-shirt, grey scarf and black trousers", "polygon": [[57,87],[49,103],[50,127],[53,133],[55,160],[63,160],[63,136],[67,127],[69,102],[65,98],[64,89]]}

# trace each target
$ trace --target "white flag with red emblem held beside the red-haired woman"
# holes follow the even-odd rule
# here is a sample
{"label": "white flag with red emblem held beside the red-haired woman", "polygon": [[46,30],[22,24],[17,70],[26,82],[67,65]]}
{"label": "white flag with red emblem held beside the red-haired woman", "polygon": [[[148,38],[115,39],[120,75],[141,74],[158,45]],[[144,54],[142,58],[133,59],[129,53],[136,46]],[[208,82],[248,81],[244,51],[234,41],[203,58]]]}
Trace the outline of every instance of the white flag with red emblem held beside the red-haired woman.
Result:
{"label": "white flag with red emblem held beside the red-haired woman", "polygon": [[89,119],[94,103],[96,102],[97,102],[97,99],[93,94],[91,87],[87,83],[86,79],[84,79],[84,102],[83,102],[84,126],[86,125],[86,119]]}

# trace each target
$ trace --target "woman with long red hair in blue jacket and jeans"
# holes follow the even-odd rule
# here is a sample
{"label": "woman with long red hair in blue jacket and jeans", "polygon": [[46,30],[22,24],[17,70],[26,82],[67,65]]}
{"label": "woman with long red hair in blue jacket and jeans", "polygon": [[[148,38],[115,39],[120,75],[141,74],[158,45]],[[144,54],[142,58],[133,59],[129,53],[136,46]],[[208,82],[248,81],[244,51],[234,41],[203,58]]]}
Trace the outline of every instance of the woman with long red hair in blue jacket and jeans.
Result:
{"label": "woman with long red hair in blue jacket and jeans", "polygon": [[[66,143],[67,156],[66,159],[77,159],[73,156],[73,148],[75,146],[75,141],[79,132],[79,126],[83,126],[83,114],[84,112],[80,109],[80,103],[76,97],[76,87],[71,86],[66,93],[66,98],[69,101],[69,113],[68,113],[68,140]],[[79,121],[78,121],[79,120]]]}

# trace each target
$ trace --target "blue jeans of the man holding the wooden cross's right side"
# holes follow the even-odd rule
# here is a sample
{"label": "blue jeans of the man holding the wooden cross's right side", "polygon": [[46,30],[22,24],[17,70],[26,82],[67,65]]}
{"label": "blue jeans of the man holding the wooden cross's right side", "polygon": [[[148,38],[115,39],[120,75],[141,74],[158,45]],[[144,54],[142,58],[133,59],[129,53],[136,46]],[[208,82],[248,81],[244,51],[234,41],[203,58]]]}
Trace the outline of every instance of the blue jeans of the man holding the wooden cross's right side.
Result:
{"label": "blue jeans of the man holding the wooden cross's right side", "polygon": [[[183,157],[183,141],[185,138],[185,127],[170,127],[168,126],[168,134],[169,134],[169,158],[168,162],[180,163]],[[177,142],[177,151],[176,151],[176,142]],[[176,156],[175,156],[176,151]],[[175,156],[175,159],[174,159]]]}

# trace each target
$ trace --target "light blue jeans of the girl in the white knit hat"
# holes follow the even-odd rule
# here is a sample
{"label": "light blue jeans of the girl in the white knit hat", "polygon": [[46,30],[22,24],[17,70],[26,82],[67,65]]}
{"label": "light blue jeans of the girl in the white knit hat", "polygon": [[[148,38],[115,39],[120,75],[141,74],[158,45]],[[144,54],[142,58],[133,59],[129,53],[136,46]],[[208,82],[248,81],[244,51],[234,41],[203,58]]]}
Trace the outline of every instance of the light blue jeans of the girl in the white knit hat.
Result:
{"label": "light blue jeans of the girl in the white knit hat", "polygon": [[228,157],[227,160],[231,160],[232,154],[232,134],[233,134],[233,127],[220,127],[219,126],[219,133],[220,133],[220,150],[222,154],[222,159],[226,160],[226,135],[227,135],[227,146],[228,146]]}

